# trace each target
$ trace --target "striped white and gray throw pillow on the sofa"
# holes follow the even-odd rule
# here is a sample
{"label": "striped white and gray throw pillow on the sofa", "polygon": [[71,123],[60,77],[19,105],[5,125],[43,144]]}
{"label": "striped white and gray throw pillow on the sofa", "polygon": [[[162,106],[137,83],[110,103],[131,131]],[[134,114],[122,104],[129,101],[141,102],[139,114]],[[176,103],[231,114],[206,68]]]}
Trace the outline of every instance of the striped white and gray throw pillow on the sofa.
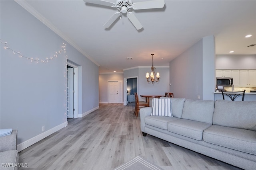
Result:
{"label": "striped white and gray throw pillow on the sofa", "polygon": [[164,98],[164,99],[153,98],[152,110],[150,115],[172,117],[171,106],[172,106],[171,98]]}

